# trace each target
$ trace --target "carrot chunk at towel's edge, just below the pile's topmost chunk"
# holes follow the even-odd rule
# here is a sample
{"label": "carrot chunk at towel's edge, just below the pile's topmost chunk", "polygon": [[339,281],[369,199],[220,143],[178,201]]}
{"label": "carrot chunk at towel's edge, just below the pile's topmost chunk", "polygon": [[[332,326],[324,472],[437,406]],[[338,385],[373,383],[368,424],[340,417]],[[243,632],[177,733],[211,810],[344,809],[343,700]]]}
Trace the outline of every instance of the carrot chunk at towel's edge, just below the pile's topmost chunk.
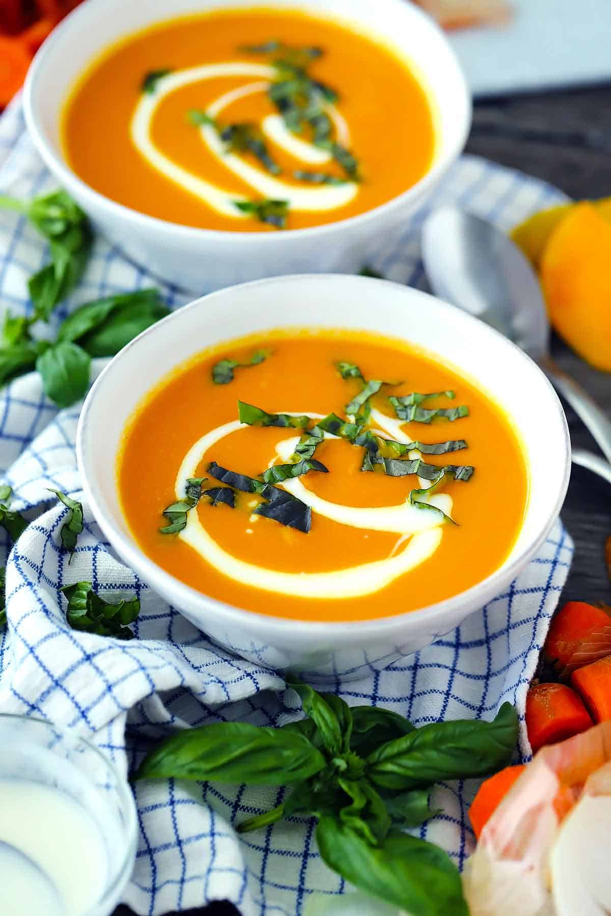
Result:
{"label": "carrot chunk at towel's edge, just below the pile's topmost chunk", "polygon": [[592,725],[578,693],[566,684],[537,684],[526,697],[526,728],[530,747],[540,747],[573,737]]}

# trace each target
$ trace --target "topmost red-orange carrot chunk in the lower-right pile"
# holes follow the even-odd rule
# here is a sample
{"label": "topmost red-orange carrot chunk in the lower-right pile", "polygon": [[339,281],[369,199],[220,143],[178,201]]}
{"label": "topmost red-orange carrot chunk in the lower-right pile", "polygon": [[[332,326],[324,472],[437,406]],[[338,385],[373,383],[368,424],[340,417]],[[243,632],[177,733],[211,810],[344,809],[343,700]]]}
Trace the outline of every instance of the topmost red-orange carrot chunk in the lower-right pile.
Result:
{"label": "topmost red-orange carrot chunk in the lower-right pile", "polygon": [[543,655],[562,671],[567,665],[579,667],[579,660],[574,663],[574,659],[580,653],[584,655],[581,664],[594,661],[595,658],[589,658],[585,649],[594,651],[596,644],[605,646],[601,648],[604,654],[611,653],[611,616],[602,607],[587,605],[584,601],[569,601],[551,621]]}

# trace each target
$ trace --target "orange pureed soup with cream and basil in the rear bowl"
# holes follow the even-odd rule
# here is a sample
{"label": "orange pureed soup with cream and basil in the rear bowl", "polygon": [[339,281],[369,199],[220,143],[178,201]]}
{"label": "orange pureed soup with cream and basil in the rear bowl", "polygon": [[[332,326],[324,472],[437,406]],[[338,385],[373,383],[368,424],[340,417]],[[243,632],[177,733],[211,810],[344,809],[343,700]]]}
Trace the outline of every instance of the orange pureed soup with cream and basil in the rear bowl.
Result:
{"label": "orange pureed soup with cream and basil in the rear bowl", "polygon": [[332,223],[430,168],[431,109],[409,62],[354,23],[236,9],[107,49],[71,92],[64,155],[112,200],[206,229]]}

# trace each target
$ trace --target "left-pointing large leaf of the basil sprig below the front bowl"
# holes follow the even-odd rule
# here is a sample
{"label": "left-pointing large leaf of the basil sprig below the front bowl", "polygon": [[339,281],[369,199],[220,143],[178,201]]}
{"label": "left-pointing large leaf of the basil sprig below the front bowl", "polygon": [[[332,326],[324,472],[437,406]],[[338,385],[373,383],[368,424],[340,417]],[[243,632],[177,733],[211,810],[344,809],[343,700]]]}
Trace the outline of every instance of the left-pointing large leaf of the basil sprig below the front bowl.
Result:
{"label": "left-pointing large leaf of the basil sprig below the front bowl", "polygon": [[247,782],[283,786],[307,780],[325,760],[307,738],[281,728],[218,722],[178,732],[147,754],[137,780]]}

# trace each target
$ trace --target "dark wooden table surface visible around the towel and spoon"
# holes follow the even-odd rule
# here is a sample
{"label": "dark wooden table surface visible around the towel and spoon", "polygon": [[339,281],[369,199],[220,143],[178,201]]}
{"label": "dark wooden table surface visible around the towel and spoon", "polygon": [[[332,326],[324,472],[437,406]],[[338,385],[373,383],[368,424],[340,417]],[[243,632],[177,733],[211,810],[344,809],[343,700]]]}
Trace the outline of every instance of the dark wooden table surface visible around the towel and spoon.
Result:
{"label": "dark wooden table surface visible around the towel and spoon", "polygon": [[[611,86],[479,103],[467,151],[550,181],[572,197],[611,194]],[[611,415],[611,375],[591,369],[559,340],[552,352]],[[573,444],[598,451],[570,408],[567,417]],[[611,603],[604,557],[604,541],[611,534],[609,485],[573,467],[562,519],[575,542],[563,599]],[[235,916],[237,911],[231,904],[214,903],[191,911],[191,916],[198,914]],[[131,916],[131,911],[119,907],[115,916]]]}

